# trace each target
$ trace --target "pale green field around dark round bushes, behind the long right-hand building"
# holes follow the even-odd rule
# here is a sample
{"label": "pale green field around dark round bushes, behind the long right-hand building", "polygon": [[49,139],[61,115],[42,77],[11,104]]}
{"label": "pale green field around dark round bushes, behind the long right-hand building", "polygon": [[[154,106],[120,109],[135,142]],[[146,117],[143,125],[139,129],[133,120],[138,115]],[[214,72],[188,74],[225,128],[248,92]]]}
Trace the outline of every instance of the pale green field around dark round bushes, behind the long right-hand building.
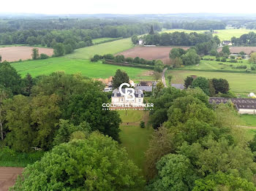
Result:
{"label": "pale green field around dark round bushes, behind the long right-hand building", "polygon": [[196,75],[197,77],[224,78],[230,83],[230,89],[234,93],[251,93],[256,92],[256,74],[250,73],[231,73],[216,71],[168,71],[173,75],[173,83],[184,83],[187,76]]}

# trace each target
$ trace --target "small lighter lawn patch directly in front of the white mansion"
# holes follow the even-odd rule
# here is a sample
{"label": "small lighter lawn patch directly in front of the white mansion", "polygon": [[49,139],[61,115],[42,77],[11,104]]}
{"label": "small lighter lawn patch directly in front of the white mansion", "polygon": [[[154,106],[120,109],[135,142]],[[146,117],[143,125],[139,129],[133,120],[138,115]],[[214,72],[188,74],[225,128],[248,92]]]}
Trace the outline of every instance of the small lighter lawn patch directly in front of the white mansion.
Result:
{"label": "small lighter lawn patch directly in front of the white mansion", "polygon": [[120,110],[118,111],[120,114],[122,122],[140,122],[143,119],[144,111],[140,110]]}

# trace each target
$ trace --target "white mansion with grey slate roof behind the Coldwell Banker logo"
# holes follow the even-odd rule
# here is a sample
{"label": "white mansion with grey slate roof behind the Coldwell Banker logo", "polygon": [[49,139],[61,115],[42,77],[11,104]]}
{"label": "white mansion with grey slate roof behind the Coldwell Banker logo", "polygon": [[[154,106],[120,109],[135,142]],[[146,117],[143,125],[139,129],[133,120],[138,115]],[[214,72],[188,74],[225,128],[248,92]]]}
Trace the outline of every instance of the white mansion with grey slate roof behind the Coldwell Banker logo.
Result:
{"label": "white mansion with grey slate roof behind the Coldwell Banker logo", "polygon": [[[121,91],[124,93],[124,88]],[[124,95],[121,95],[118,89],[115,89],[111,95],[111,104],[128,104],[129,106],[138,106],[143,104],[144,94],[142,90],[135,89],[135,100],[127,101],[127,98],[132,98],[132,96],[129,95],[125,97]]]}

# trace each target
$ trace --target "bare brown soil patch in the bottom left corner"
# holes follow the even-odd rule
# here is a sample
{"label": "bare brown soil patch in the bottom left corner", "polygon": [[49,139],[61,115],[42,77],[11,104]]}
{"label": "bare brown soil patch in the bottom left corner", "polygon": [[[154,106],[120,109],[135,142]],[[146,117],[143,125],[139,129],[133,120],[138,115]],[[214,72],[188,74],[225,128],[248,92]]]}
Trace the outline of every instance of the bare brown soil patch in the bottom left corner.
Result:
{"label": "bare brown soil patch in the bottom left corner", "polygon": [[23,168],[0,167],[0,191],[7,191],[15,183]]}

